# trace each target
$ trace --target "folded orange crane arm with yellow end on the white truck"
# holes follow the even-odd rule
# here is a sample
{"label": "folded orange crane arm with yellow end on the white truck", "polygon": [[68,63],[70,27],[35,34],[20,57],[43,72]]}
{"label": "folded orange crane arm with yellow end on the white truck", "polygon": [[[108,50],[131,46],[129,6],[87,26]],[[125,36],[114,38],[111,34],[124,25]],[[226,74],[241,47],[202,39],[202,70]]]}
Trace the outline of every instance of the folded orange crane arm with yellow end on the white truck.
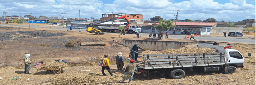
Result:
{"label": "folded orange crane arm with yellow end on the white truck", "polygon": [[131,21],[127,18],[127,16],[122,16],[122,17],[117,17],[117,18],[108,19],[108,20],[104,20],[104,21],[98,21],[98,22],[90,23],[89,24],[90,27],[88,27],[86,29],[86,31],[89,32],[89,33],[95,33],[95,34],[103,35],[105,33],[103,33],[98,26],[94,26],[94,25],[104,23],[104,22],[108,22],[108,21],[117,20],[117,19],[125,19],[127,21],[127,23],[126,23],[126,26],[124,27],[124,29],[129,30],[129,26],[131,24]]}

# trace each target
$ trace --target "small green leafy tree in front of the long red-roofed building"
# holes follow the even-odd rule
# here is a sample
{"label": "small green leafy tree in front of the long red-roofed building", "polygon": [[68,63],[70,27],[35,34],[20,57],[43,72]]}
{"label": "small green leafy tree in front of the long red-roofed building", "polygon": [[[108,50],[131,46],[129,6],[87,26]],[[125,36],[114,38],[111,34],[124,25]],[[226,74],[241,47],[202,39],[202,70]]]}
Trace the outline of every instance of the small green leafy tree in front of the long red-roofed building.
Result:
{"label": "small green leafy tree in front of the long red-roofed building", "polygon": [[165,20],[160,20],[159,21],[159,25],[155,26],[154,28],[159,28],[159,32],[162,32],[163,30],[168,30],[172,27],[175,27],[175,25],[173,25],[171,20],[165,21]]}

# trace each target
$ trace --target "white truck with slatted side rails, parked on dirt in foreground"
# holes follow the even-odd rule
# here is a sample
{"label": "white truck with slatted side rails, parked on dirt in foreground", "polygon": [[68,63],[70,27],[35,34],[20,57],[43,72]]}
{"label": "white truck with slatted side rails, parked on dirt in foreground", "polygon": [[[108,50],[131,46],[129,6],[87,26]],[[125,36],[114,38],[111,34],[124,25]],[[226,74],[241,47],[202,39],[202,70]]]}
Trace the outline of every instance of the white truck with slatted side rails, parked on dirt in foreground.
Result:
{"label": "white truck with slatted side rails, parked on dirt in foreground", "polygon": [[173,79],[185,76],[184,70],[221,71],[232,74],[236,68],[243,68],[244,57],[232,46],[198,44],[198,47],[213,47],[217,53],[185,53],[185,54],[144,54],[147,61],[138,65],[135,73],[141,73],[149,79],[150,73],[159,73],[165,78],[168,75]]}

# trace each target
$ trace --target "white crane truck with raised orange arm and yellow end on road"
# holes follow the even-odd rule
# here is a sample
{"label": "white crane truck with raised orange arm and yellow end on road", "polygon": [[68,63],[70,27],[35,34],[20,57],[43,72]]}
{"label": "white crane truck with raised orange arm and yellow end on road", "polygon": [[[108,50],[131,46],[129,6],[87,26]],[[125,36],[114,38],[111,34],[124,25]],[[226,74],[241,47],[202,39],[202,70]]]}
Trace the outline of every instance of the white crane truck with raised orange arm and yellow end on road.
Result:
{"label": "white crane truck with raised orange arm and yellow end on road", "polygon": [[130,26],[131,25],[131,21],[127,18],[127,16],[122,16],[122,17],[117,17],[117,18],[113,18],[113,19],[108,19],[108,20],[104,20],[104,21],[98,21],[98,22],[94,22],[94,23],[90,23],[89,27],[86,29],[87,32],[89,33],[95,33],[95,34],[104,34],[103,32],[118,32],[119,28],[117,27],[102,27],[102,26],[94,26],[97,24],[101,24],[104,22],[109,22],[109,21],[113,21],[113,20],[117,20],[117,19],[124,19],[127,21],[127,23],[125,23],[125,31],[127,31],[130,34],[133,33],[137,33],[137,32],[141,32],[141,27],[140,26]]}

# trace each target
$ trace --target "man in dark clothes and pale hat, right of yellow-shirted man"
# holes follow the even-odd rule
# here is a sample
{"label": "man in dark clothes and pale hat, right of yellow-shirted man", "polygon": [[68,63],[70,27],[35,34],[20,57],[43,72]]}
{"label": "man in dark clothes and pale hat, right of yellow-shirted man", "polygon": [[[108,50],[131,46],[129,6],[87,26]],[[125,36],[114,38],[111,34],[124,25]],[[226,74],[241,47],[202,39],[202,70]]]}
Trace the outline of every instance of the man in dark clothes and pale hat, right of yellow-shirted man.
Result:
{"label": "man in dark clothes and pale hat, right of yellow-shirted man", "polygon": [[122,70],[124,66],[123,60],[127,60],[127,59],[123,58],[122,52],[119,52],[118,55],[116,55],[115,57],[116,57],[117,70]]}

